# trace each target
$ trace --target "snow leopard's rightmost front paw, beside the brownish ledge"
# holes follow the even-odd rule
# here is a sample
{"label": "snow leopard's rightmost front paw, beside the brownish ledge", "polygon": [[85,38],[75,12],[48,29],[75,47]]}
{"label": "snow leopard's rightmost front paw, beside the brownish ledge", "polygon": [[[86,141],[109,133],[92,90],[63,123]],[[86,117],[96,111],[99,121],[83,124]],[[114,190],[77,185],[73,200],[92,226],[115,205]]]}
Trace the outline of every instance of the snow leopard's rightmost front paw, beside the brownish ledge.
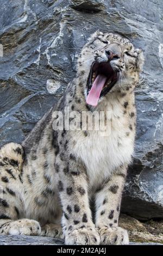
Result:
{"label": "snow leopard's rightmost front paw, beside the brownish ledge", "polygon": [[126,229],[120,227],[99,229],[101,245],[128,245],[129,238]]}

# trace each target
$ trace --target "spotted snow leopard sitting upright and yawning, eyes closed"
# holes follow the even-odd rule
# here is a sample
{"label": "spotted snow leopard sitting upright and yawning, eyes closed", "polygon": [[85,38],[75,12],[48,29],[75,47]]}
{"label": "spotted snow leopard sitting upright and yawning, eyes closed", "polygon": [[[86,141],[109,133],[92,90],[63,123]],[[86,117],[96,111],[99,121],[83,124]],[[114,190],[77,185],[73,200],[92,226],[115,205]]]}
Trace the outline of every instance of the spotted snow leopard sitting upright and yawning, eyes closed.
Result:
{"label": "spotted snow leopard sitting upright and yawning, eyes closed", "polygon": [[[118,216],[134,150],[134,88],[142,65],[142,51],[128,39],[99,31],[90,37],[57,106],[22,145],[0,150],[1,234],[64,237],[66,245],[129,242]],[[65,108],[69,121],[72,112],[86,112],[88,119],[104,112],[99,121],[107,125],[101,131],[94,122],[91,130],[80,119],[82,129],[54,129],[60,121],[54,113],[65,117]]]}

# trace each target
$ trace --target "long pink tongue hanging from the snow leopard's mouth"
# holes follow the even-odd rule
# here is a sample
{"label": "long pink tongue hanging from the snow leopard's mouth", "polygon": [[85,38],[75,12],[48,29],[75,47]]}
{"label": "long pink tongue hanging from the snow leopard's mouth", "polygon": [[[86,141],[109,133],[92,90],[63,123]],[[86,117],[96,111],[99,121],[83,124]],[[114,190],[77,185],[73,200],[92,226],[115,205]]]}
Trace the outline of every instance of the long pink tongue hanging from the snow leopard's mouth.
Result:
{"label": "long pink tongue hanging from the snow leopard's mouth", "polygon": [[98,75],[92,84],[91,90],[86,97],[86,103],[92,106],[97,106],[99,96],[104,87],[107,77]]}

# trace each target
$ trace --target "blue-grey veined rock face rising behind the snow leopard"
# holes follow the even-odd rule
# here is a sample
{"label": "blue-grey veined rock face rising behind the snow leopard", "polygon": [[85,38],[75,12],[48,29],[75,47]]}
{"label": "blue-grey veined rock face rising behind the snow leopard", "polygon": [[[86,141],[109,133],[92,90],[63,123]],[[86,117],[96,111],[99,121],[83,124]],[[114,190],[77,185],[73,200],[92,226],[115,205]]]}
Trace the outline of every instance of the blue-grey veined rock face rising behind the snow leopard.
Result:
{"label": "blue-grey veined rock face rising behind the snow leopard", "polygon": [[163,5],[162,0],[131,2],[0,0],[0,145],[21,142],[58,101],[91,33],[127,36],[146,61],[135,90],[135,158],[122,211],[147,220],[163,217]]}

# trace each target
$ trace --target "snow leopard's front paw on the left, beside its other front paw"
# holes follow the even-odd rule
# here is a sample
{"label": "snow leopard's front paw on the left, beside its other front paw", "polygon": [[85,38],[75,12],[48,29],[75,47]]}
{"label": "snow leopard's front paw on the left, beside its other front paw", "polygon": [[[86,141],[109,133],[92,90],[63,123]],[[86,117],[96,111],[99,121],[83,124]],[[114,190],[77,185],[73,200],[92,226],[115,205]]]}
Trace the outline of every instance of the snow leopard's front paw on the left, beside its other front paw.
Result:
{"label": "snow leopard's front paw on the left, beside its other front paw", "polygon": [[95,228],[74,229],[65,235],[66,245],[99,245],[100,237]]}

